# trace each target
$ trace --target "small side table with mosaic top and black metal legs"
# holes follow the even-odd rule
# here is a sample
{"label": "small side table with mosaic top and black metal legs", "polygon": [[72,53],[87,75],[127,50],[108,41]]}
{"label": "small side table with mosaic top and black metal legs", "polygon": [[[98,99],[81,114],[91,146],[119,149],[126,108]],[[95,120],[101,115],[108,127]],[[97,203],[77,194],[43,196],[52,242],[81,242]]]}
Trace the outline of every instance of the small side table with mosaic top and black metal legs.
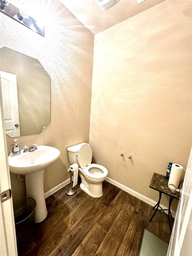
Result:
{"label": "small side table with mosaic top and black metal legs", "polygon": [[[170,228],[170,232],[172,231],[172,228],[171,228],[171,221],[170,221],[170,217],[171,219],[173,220],[173,217],[171,215],[171,203],[173,201],[173,199],[177,199],[179,200],[179,196],[176,194],[176,193],[171,193],[169,190],[168,190],[168,180],[166,179],[166,177],[164,175],[161,175],[161,174],[158,174],[158,173],[155,173],[153,174],[153,177],[152,177],[152,180],[151,180],[151,183],[150,183],[150,188],[152,189],[155,189],[157,191],[159,191],[159,201],[157,202],[157,204],[153,207],[153,210],[155,209],[155,207],[157,206],[155,212],[153,213],[153,216],[151,217],[151,219],[149,220],[150,222],[152,221],[153,217],[155,216],[156,212],[157,211],[163,211],[165,213],[165,211],[168,211],[168,216],[166,214],[166,216],[168,217],[169,219],[169,228]],[[168,209],[162,209],[161,206],[160,206],[160,201],[161,201],[161,196],[162,196],[162,193],[165,194],[165,195],[168,195],[170,196],[170,199],[169,199],[169,208]],[[160,208],[160,209],[158,209]]]}

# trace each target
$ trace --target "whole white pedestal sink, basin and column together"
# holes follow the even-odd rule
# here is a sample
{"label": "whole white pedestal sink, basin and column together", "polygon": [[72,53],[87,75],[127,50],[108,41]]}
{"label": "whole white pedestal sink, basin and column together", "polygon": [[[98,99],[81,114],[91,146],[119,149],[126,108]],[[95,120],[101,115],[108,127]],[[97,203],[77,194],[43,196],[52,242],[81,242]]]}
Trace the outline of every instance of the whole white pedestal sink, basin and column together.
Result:
{"label": "whole white pedestal sink, basin and column together", "polygon": [[43,189],[44,169],[55,162],[60,151],[49,146],[38,146],[37,150],[8,156],[10,172],[25,174],[26,194],[36,200],[35,222],[43,221],[47,216]]}

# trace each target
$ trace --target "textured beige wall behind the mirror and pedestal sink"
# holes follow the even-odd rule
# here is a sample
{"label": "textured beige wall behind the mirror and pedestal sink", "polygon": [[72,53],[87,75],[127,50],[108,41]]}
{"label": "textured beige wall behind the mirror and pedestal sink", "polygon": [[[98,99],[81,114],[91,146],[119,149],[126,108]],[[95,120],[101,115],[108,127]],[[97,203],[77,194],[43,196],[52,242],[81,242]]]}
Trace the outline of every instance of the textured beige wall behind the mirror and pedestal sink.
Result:
{"label": "textured beige wall behind the mirror and pedestal sink", "polygon": [[[21,146],[36,142],[60,150],[45,169],[46,192],[69,178],[67,147],[89,141],[94,35],[57,0],[27,3],[45,14],[45,38],[1,13],[0,47],[39,59],[51,77],[51,123],[39,135],[19,138]],[[8,153],[12,140],[7,136]],[[11,184],[13,200],[24,195],[17,175],[11,174]]]}

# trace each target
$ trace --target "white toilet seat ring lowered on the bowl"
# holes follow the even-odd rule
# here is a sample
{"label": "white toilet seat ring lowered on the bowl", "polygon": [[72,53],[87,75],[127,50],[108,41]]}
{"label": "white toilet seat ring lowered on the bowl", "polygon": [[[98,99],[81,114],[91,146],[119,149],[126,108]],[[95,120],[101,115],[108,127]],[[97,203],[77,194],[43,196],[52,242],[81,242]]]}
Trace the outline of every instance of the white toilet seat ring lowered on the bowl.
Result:
{"label": "white toilet seat ring lowered on the bowl", "polygon": [[[92,170],[93,169],[93,170]],[[87,167],[83,168],[82,171],[90,178],[94,179],[103,179],[107,177],[107,169],[100,164],[90,164]],[[93,173],[91,173],[91,171]]]}

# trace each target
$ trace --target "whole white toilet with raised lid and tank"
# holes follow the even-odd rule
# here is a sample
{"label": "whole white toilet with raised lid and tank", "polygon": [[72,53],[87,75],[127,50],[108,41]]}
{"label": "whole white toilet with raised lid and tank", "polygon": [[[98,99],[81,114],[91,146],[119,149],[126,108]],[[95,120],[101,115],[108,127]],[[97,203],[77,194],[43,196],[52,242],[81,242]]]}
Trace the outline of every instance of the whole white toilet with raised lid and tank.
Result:
{"label": "whole white toilet with raised lid and tank", "polygon": [[77,163],[81,177],[80,188],[92,197],[103,195],[102,182],[106,179],[108,171],[99,164],[91,164],[92,150],[89,144],[80,143],[67,148],[70,163]]}

